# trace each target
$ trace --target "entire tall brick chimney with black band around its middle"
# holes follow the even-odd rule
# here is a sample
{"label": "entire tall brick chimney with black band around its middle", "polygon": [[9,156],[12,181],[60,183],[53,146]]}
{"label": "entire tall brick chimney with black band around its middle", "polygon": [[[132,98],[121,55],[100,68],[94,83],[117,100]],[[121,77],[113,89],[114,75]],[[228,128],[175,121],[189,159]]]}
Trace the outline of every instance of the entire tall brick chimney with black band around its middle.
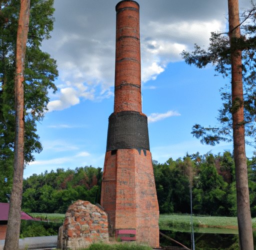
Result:
{"label": "entire tall brick chimney with black band around its middle", "polygon": [[147,117],[141,112],[139,5],[122,0],[115,10],[114,111],[108,118],[101,205],[109,231],[132,232],[130,239],[158,247],[158,202]]}

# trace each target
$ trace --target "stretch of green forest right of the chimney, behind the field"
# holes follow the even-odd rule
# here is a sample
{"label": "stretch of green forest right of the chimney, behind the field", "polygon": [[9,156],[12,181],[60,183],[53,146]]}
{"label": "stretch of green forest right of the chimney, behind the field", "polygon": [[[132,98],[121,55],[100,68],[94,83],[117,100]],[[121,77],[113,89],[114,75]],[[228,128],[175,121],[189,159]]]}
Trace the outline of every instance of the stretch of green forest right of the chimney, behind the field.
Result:
{"label": "stretch of green forest right of the chimney, behind the field", "polygon": [[[255,157],[248,159],[251,215],[256,216]],[[192,167],[192,175],[190,175]],[[236,216],[236,188],[233,155],[186,154],[175,161],[153,161],[160,213],[190,213],[189,178],[192,176],[193,213]]]}

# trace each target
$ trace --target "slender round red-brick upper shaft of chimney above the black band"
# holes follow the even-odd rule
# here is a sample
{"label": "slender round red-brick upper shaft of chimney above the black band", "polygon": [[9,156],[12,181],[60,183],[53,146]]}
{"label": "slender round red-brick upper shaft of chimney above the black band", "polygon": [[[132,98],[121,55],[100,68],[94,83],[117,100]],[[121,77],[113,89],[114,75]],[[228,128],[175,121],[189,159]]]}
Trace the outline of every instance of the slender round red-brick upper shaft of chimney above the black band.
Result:
{"label": "slender round red-brick upper shaft of chimney above the black band", "polygon": [[135,1],[116,5],[114,113],[141,112],[139,6]]}

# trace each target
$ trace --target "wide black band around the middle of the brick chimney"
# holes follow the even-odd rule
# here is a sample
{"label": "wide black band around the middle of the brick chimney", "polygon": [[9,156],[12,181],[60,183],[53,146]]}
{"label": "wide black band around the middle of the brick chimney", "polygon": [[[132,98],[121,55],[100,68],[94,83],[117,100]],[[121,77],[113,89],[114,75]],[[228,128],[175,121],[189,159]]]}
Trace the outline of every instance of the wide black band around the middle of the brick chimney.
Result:
{"label": "wide black band around the middle of the brick chimney", "polygon": [[149,150],[147,117],[136,111],[112,113],[108,118],[106,151],[120,148]]}

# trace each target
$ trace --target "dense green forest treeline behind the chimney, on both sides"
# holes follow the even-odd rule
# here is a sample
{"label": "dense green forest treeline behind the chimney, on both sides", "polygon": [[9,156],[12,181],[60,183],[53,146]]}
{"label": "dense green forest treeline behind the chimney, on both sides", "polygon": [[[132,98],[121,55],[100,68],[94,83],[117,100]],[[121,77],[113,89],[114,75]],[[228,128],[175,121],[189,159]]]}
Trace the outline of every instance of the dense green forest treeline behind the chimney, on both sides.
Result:
{"label": "dense green forest treeline behind the chimney, on both sides", "polygon": [[[256,157],[248,159],[247,166],[251,216],[255,217]],[[236,216],[234,161],[230,152],[187,153],[162,164],[153,160],[153,169],[160,213],[190,213],[191,183],[194,214]],[[92,166],[33,174],[23,181],[22,210],[65,213],[78,199],[100,203],[101,178],[101,168]]]}

